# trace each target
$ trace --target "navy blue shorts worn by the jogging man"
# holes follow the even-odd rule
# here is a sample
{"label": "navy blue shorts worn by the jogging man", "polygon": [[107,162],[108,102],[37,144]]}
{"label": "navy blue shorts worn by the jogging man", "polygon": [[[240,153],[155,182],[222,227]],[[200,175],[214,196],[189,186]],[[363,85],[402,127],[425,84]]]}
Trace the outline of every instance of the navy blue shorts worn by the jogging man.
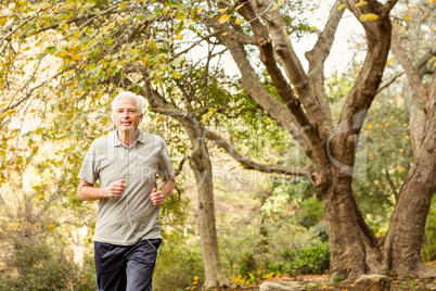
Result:
{"label": "navy blue shorts worn by the jogging man", "polygon": [[162,239],[141,240],[134,245],[94,241],[99,291],[152,291],[152,277]]}

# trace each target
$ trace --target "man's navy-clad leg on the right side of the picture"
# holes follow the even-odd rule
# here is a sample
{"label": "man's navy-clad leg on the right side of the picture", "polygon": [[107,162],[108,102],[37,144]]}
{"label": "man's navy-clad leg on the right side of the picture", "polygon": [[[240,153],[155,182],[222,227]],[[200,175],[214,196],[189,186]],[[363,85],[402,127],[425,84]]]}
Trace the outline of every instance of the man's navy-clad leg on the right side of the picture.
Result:
{"label": "man's navy-clad leg on the right side of the picture", "polygon": [[128,253],[127,291],[152,291],[152,278],[161,239],[141,240]]}

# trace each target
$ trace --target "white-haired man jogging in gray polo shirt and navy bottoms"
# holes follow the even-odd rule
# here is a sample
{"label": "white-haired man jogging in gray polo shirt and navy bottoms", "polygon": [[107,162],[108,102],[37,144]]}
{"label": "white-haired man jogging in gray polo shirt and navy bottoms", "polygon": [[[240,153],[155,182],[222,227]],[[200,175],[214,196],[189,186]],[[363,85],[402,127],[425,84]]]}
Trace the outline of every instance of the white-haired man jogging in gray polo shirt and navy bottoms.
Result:
{"label": "white-haired man jogging in gray polo shirt and navy bottoms", "polygon": [[[138,129],[142,107],[132,92],[114,99],[116,130],[92,142],[78,176],[78,198],[99,200],[93,238],[99,291],[152,290],[162,242],[159,206],[175,179],[164,139]],[[94,187],[97,180],[100,187]]]}

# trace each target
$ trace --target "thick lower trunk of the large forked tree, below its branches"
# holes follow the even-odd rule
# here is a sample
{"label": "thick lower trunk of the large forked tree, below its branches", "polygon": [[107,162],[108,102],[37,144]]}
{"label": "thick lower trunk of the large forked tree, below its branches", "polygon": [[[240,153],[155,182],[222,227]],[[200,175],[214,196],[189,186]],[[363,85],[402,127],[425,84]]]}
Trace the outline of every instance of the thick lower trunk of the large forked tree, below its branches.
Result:
{"label": "thick lower trunk of the large forked tree, below its branches", "polygon": [[356,204],[351,177],[332,167],[331,180],[320,189],[329,232],[330,280],[354,281],[363,274],[383,274],[376,238]]}

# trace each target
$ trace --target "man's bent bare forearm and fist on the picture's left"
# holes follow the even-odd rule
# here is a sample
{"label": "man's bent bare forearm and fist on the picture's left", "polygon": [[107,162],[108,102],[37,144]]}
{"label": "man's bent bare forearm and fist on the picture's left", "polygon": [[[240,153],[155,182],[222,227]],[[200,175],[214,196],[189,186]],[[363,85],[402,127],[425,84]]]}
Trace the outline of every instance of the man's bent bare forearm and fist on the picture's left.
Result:
{"label": "man's bent bare forearm and fist on the picture's left", "polygon": [[80,179],[80,184],[77,189],[77,197],[81,201],[94,201],[102,198],[119,198],[124,189],[126,188],[124,181],[125,180],[123,179],[114,181],[104,188],[95,188],[93,184]]}

